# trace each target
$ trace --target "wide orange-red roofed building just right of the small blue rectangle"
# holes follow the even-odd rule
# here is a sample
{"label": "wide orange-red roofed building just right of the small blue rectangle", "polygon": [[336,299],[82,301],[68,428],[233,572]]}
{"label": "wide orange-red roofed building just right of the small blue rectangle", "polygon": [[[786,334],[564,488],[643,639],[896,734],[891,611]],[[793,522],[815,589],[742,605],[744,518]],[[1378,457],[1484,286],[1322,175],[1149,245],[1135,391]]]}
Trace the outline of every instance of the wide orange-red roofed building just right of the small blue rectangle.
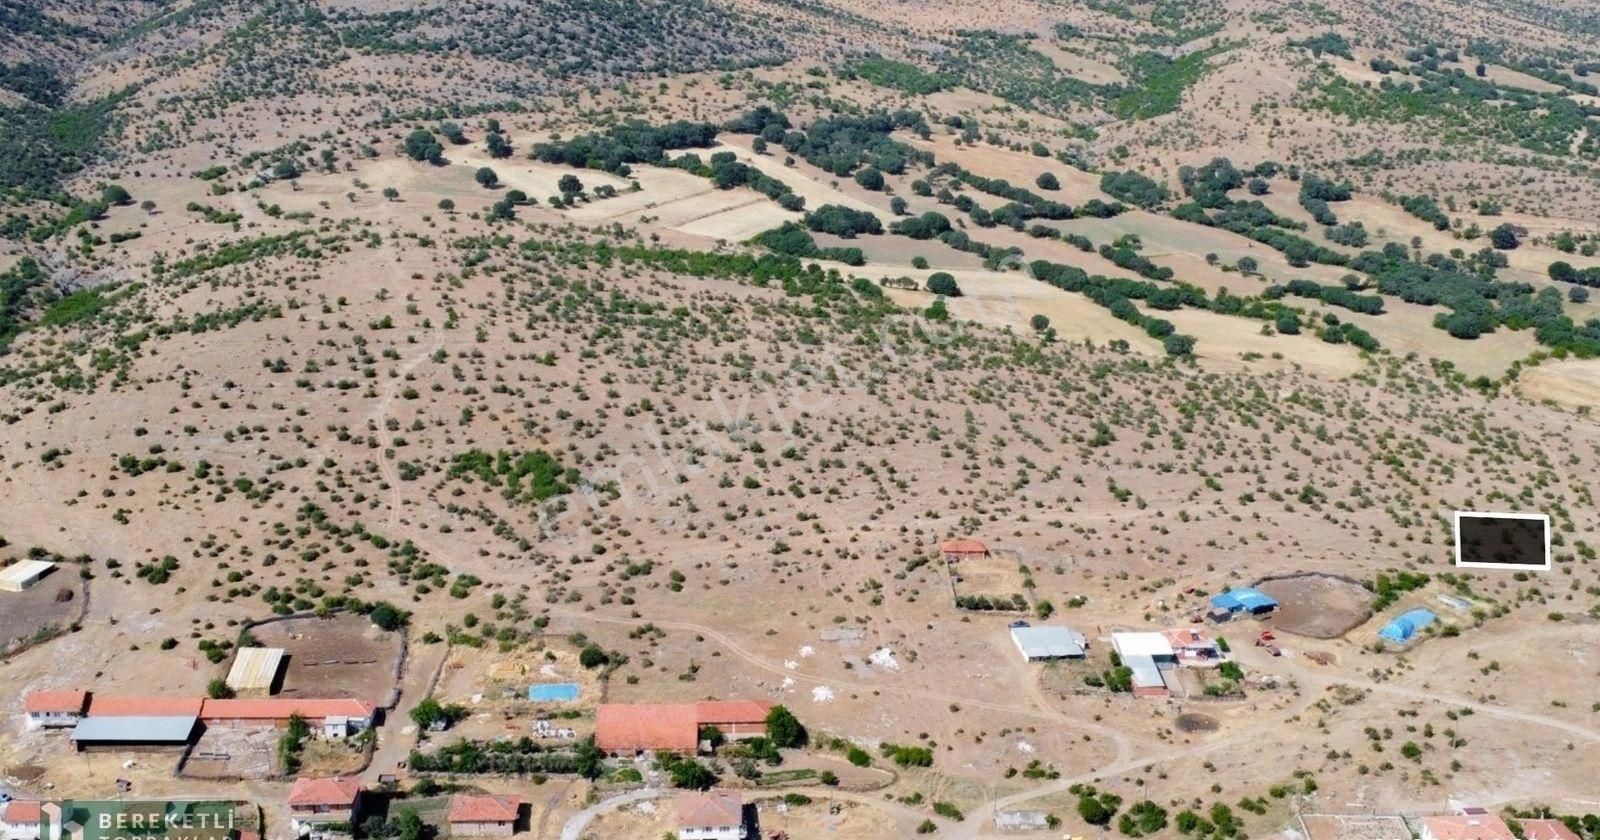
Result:
{"label": "wide orange-red roofed building just right of the small blue rectangle", "polygon": [[608,702],[595,710],[595,744],[610,754],[653,750],[698,752],[701,726],[717,726],[728,739],[766,734],[762,701],[706,701],[672,704]]}

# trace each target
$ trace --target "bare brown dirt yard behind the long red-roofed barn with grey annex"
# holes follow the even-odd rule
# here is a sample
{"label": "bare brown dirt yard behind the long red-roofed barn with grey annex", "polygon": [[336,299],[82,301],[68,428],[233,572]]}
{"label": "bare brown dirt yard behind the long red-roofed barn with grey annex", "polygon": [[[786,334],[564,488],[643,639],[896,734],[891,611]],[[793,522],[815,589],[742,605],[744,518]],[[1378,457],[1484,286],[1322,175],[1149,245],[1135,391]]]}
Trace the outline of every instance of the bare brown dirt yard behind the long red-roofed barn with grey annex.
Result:
{"label": "bare brown dirt yard behind the long red-roofed barn with grey annex", "polygon": [[280,698],[354,698],[389,706],[400,666],[400,635],[365,616],[293,618],[253,627],[261,645],[283,648]]}

